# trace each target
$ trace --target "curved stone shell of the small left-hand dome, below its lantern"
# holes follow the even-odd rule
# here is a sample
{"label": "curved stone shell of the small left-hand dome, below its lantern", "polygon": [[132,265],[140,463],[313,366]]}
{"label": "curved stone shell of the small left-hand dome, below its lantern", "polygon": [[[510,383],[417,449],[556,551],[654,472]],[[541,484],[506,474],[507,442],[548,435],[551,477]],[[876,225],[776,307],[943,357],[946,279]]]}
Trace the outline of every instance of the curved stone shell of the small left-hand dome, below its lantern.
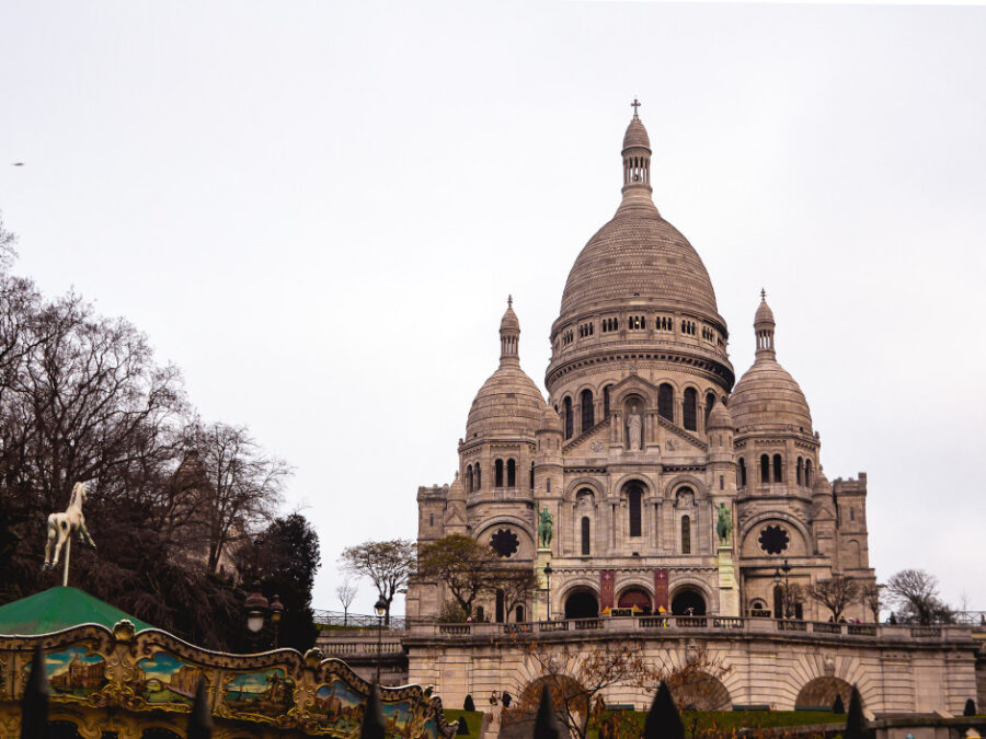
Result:
{"label": "curved stone shell of the small left-hand dome, below its lantern", "polygon": [[466,422],[466,440],[474,435],[534,436],[544,399],[519,365],[505,362],[483,383]]}

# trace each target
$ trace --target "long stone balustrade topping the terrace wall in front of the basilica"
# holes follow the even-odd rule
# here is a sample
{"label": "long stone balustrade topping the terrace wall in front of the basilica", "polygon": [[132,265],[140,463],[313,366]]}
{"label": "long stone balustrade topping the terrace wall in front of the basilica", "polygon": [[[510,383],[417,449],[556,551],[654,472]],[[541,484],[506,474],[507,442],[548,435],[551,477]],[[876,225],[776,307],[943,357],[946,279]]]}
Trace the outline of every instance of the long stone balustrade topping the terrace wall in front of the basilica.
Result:
{"label": "long stone balustrade topping the terrace wall in front of the basilica", "polygon": [[777,633],[792,635],[815,634],[827,638],[879,638],[888,640],[941,640],[970,638],[970,627],[963,625],[914,626],[891,624],[850,624],[794,619],[752,619],[733,616],[605,616],[598,619],[570,619],[565,621],[537,621],[525,623],[435,623],[413,622],[405,632],[410,638],[473,638],[500,635],[524,635],[551,638],[559,632],[606,633],[615,636],[680,636],[683,633],[730,635],[749,634],[766,636]]}

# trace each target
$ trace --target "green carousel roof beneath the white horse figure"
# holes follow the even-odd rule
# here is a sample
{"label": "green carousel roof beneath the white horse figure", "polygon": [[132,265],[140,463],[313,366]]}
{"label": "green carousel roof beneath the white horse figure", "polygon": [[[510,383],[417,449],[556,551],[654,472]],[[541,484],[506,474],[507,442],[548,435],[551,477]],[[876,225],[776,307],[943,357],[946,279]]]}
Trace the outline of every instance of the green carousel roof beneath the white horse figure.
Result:
{"label": "green carousel roof beneath the white horse figure", "polygon": [[154,628],[78,588],[48,588],[13,603],[0,605],[0,634],[35,636],[80,624],[100,624],[113,628],[123,619],[129,619],[138,632]]}

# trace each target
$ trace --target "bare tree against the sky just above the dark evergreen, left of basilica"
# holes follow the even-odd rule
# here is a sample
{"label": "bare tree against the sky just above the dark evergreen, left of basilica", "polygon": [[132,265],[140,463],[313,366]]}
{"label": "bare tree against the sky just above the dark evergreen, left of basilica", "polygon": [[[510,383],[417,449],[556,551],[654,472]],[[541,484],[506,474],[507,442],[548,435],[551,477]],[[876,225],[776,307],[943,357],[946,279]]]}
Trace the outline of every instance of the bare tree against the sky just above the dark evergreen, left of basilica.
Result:
{"label": "bare tree against the sky just above the dark evergreen, left of basilica", "polygon": [[196,422],[184,444],[188,453],[176,476],[192,490],[187,505],[196,511],[206,567],[217,574],[230,547],[274,519],[291,469],[265,454],[243,426]]}

